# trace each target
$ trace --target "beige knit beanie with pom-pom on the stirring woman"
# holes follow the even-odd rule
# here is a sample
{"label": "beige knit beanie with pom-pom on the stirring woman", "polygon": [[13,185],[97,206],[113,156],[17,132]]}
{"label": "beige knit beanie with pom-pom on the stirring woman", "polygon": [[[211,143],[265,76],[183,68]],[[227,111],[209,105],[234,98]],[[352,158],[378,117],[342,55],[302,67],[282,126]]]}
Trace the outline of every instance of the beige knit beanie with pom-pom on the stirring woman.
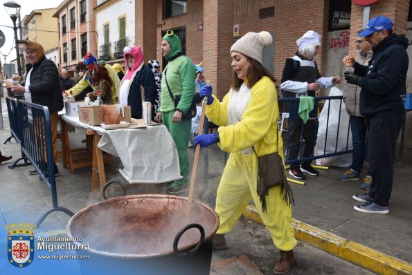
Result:
{"label": "beige knit beanie with pom-pom on the stirring woman", "polygon": [[262,64],[262,50],[264,47],[272,44],[272,41],[273,39],[269,32],[248,32],[233,44],[231,53],[242,53]]}

